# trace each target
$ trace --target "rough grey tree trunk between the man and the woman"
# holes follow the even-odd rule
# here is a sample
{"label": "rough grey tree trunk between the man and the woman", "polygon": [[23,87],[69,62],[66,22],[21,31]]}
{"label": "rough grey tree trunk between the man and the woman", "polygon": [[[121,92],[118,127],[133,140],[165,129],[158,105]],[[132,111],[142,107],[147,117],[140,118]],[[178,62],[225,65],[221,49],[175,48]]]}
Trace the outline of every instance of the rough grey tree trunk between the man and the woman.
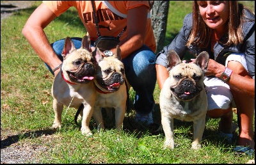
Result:
{"label": "rough grey tree trunk between the man and the woman", "polygon": [[164,47],[169,3],[170,1],[154,1],[154,5],[151,10],[152,27],[157,45],[156,54],[162,51]]}

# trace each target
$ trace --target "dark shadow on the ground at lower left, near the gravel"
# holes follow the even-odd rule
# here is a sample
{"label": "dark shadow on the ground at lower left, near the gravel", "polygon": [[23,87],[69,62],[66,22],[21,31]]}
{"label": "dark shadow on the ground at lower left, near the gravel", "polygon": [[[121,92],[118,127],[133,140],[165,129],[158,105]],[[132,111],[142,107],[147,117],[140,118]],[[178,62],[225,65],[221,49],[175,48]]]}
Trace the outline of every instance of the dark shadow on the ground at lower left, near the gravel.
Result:
{"label": "dark shadow on the ground at lower left, near the gravel", "polygon": [[48,136],[52,135],[56,132],[55,130],[36,130],[36,131],[29,131],[22,134],[17,134],[13,136],[8,136],[8,138],[1,140],[1,149],[6,148],[14,143],[17,143],[21,138],[38,138],[40,136]]}

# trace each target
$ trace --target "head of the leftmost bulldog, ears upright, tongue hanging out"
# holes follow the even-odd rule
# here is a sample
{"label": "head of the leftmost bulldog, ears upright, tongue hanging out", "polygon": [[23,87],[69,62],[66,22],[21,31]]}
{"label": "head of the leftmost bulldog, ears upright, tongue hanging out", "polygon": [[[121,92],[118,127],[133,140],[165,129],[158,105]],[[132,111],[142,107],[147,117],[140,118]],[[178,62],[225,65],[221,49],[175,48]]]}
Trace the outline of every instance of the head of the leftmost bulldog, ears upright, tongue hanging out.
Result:
{"label": "head of the leftmost bulldog, ears upright, tongue hanging out", "polygon": [[65,78],[73,83],[89,83],[96,74],[96,52],[90,50],[90,39],[88,36],[84,36],[80,49],[76,49],[72,40],[67,37],[62,52],[62,71]]}

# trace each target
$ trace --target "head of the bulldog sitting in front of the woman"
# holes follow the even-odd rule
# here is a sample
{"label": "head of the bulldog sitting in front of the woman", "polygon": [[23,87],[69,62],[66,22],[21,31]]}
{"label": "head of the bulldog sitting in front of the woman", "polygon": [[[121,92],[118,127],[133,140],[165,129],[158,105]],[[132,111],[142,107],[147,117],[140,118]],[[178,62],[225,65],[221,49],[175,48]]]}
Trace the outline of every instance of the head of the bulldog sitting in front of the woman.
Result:
{"label": "head of the bulldog sitting in front of the woman", "polygon": [[209,56],[202,52],[195,63],[182,63],[175,51],[167,54],[170,67],[170,90],[179,100],[191,100],[204,89],[204,71]]}

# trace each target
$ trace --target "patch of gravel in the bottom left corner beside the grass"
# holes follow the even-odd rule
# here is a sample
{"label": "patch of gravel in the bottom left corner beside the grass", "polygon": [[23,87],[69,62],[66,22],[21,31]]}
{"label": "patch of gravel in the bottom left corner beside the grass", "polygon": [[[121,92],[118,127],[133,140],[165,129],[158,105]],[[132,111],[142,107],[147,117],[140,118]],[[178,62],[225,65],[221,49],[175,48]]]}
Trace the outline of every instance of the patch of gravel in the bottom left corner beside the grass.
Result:
{"label": "patch of gravel in the bottom left corner beside the grass", "polygon": [[[1,129],[1,164],[42,163],[40,154],[46,155],[51,150],[49,145],[44,144],[49,144],[49,141],[56,138],[54,132],[54,130],[37,130],[25,133],[12,132],[6,135],[6,130]],[[20,137],[36,138],[38,142],[28,142],[26,139],[20,141]]]}

